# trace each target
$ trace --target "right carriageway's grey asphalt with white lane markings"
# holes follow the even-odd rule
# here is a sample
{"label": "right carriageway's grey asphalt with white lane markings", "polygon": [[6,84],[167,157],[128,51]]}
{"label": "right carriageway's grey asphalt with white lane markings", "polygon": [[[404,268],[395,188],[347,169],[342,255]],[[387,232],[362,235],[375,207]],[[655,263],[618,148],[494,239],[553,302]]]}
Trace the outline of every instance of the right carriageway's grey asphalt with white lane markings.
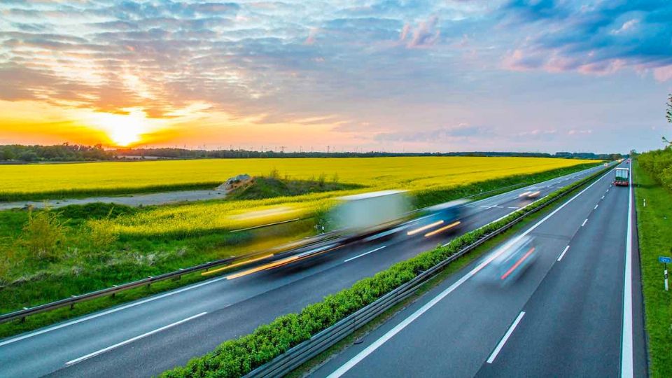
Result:
{"label": "right carriageway's grey asphalt with white lane markings", "polygon": [[646,377],[631,189],[612,175],[512,236],[538,253],[517,281],[493,283],[486,253],[311,375]]}

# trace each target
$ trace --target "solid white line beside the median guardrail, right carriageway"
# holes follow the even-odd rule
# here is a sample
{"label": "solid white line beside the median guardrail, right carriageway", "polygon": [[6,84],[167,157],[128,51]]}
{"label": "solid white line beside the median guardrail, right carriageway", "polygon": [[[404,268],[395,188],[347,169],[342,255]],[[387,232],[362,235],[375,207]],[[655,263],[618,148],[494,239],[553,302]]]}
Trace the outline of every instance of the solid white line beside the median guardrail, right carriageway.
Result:
{"label": "solid white line beside the median guardrail, right carriageway", "polygon": [[[610,171],[611,172],[611,171]],[[516,241],[520,240],[521,238],[525,237],[528,235],[530,232],[538,228],[542,223],[547,221],[549,218],[554,216],[558,211],[563,209],[563,207],[566,207],[570,202],[575,200],[577,197],[582,195],[586,190],[590,189],[592,186],[594,186],[596,183],[602,181],[610,172],[605,173],[602,177],[591,183],[587,188],[584,188],[584,190],[581,190],[577,195],[574,197],[571,197],[570,200],[567,202],[561,204],[557,209],[551,212],[551,214],[548,214],[544,218],[542,218],[540,221],[535,223],[531,228],[528,228],[525,232],[523,232],[521,235],[517,237],[513,237],[507,244],[514,244]],[[501,251],[505,251],[506,248],[501,248]],[[388,330],[385,335],[382,335],[379,339],[373,342],[373,344],[367,346],[363,351],[360,351],[357,353],[356,356],[348,360],[346,363],[344,363],[341,367],[339,367],[335,372],[332,372],[331,374],[328,375],[327,378],[338,378],[341,377],[343,374],[348,372],[348,370],[352,369],[355,365],[360,363],[361,360],[366,358],[368,355],[373,353],[376,349],[378,349],[382,344],[385,344],[389,339],[394,337],[397,333],[399,333],[401,330],[407,327],[410,323],[412,323],[416,318],[419,318],[422,314],[424,314],[428,309],[432,308],[440,302],[444,297],[452,293],[456,288],[458,288],[462,283],[470,279],[472,276],[477,274],[481,269],[483,269],[486,265],[488,265],[492,260],[498,257],[498,254],[493,254],[483,262],[481,262],[477,267],[474,269],[471,269],[467,274],[461,277],[461,279],[458,279],[455,281],[451,286],[449,286],[446,290],[443,290],[439,295],[435,296],[427,302],[423,307],[420,307],[417,309],[413,314],[405,318],[401,323],[396,325],[394,328],[391,330]]]}

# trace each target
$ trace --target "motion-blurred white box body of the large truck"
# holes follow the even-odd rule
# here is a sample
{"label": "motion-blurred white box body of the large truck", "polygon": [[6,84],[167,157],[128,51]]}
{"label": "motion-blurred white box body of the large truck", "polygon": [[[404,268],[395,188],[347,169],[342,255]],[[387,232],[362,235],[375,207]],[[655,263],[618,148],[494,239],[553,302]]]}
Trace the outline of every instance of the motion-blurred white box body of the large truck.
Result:
{"label": "motion-blurred white box body of the large truck", "polygon": [[332,210],[333,228],[349,234],[374,232],[403,221],[410,210],[405,190],[381,190],[339,197]]}

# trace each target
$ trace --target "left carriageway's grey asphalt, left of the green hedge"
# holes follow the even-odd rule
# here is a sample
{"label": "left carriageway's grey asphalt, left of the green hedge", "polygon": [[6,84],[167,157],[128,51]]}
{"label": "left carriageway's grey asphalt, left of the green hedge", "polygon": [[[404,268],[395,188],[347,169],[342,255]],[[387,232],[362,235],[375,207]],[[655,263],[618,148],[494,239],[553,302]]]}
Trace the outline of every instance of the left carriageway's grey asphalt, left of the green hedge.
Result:
{"label": "left carriageway's grey asphalt, left of the green hedge", "polygon": [[[540,190],[542,196],[547,195],[601,168],[473,202],[470,206],[475,214],[460,232],[495,221],[523,206],[521,193]],[[183,365],[277,316],[300,311],[325,295],[453,236],[417,235],[344,246],[293,265],[244,276],[218,276],[3,339],[0,377],[150,377]],[[514,303],[521,307],[523,299],[521,295]],[[510,323],[510,316],[515,316],[509,312],[516,306],[505,307],[501,315],[506,316],[495,321],[504,328]]]}

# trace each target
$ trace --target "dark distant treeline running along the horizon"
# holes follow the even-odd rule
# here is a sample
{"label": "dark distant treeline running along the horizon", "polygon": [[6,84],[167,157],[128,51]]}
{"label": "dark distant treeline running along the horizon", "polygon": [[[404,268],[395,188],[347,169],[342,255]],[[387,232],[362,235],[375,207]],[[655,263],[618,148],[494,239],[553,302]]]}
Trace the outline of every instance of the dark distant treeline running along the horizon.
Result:
{"label": "dark distant treeline running along the horizon", "polygon": [[325,152],[277,152],[246,150],[187,150],[184,148],[125,148],[106,150],[101,145],[80,146],[60,144],[57,146],[0,146],[0,162],[84,162],[102,160],[155,160],[155,159],[245,159],[245,158],[378,158],[391,156],[517,156],[526,158],[568,158],[616,160],[619,153],[514,153],[514,152],[454,152],[454,153],[325,153]]}

